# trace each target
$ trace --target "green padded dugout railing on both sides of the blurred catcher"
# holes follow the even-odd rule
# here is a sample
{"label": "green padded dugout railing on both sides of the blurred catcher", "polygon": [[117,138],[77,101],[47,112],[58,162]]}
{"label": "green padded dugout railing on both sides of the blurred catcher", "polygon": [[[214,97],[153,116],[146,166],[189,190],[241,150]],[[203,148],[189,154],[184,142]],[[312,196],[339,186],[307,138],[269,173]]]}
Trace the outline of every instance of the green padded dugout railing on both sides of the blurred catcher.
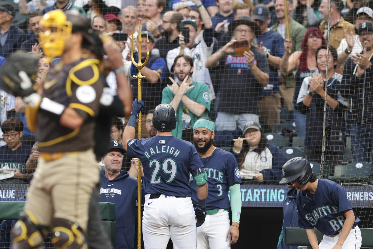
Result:
{"label": "green padded dugout railing on both sides of the blurred catcher", "polygon": [[[18,220],[25,202],[0,202],[0,220]],[[107,232],[113,246],[116,245],[115,205],[109,202],[98,202],[104,231]]]}

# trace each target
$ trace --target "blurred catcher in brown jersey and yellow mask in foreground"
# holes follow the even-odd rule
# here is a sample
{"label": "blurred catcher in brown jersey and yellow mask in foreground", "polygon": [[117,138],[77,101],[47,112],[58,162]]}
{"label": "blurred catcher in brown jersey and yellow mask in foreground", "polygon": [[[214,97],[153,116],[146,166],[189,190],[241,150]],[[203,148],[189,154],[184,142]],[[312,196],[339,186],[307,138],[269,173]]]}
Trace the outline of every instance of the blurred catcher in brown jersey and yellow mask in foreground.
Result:
{"label": "blurred catcher in brown jersey and yellow mask in foreground", "polygon": [[53,10],[40,24],[47,60],[61,57],[46,75],[42,95],[30,80],[36,58],[16,54],[9,60],[13,70],[0,72],[1,87],[28,103],[26,116],[41,152],[25,212],[13,229],[13,248],[40,248],[49,229],[56,248],[85,248],[88,203],[99,180],[95,117],[113,95],[103,93],[100,60],[84,55],[85,48],[95,45],[88,19],[75,10]]}

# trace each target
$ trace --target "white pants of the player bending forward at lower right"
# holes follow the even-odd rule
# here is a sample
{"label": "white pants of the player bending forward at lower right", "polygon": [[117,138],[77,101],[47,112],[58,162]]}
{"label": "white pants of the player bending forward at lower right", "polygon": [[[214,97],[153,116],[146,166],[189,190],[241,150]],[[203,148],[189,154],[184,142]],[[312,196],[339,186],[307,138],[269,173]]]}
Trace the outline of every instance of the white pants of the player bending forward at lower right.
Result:
{"label": "white pants of the player bending forward at lower right", "polygon": [[[336,245],[339,236],[327,236],[324,234],[322,241],[320,242],[319,249],[330,249]],[[345,242],[343,243],[342,249],[360,249],[361,247],[361,232],[358,226],[351,228]]]}

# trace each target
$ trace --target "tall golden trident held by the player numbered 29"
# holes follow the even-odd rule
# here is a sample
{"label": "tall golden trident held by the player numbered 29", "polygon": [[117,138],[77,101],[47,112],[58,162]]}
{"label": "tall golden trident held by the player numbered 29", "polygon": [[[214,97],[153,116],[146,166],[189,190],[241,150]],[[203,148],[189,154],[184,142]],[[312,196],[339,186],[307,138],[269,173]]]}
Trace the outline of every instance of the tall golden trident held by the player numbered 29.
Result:
{"label": "tall golden trident held by the player numbered 29", "polygon": [[[141,62],[141,22],[139,23],[139,35],[138,35],[138,63],[134,59],[134,34],[131,39],[131,59],[132,63],[137,67],[139,73],[132,77],[137,78],[137,99],[141,100],[141,80],[146,79],[145,75],[141,75],[141,69],[148,63],[149,60],[149,38],[148,32],[146,32],[146,59],[145,62]],[[139,113],[138,124],[137,124],[137,138],[141,138],[141,112]],[[137,248],[141,248],[141,161],[137,159]]]}

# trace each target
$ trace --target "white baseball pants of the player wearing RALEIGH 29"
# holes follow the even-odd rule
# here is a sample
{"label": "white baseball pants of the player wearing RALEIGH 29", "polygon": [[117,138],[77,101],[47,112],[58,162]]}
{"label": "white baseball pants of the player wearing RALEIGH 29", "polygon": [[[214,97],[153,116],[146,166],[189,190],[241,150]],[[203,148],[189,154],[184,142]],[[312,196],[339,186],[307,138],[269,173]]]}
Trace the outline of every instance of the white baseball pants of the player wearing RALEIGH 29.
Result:
{"label": "white baseball pants of the player wearing RALEIGH 29", "polygon": [[145,194],[142,234],[145,249],[165,249],[171,238],[173,248],[196,248],[197,232],[191,197]]}

